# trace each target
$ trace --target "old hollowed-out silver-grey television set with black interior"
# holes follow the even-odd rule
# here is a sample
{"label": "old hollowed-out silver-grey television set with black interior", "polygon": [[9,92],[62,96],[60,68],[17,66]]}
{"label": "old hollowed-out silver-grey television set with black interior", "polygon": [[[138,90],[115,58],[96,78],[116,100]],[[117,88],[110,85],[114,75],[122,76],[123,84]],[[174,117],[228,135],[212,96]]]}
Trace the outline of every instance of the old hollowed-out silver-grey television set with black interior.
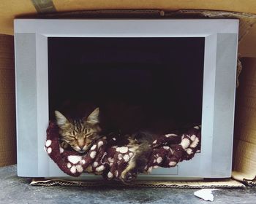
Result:
{"label": "old hollowed-out silver-grey television set with black interior", "polygon": [[156,122],[202,127],[192,160],[139,179],[230,177],[238,20],[16,19],[14,25],[18,176],[70,178],[44,151],[54,110],[74,98],[122,98],[161,113]]}

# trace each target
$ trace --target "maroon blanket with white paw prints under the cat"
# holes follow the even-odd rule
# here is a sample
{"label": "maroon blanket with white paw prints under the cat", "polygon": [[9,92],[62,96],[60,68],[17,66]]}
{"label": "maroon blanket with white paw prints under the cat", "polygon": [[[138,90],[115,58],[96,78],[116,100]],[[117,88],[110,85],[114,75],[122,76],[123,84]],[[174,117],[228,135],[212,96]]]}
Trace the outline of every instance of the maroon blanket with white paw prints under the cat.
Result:
{"label": "maroon blanket with white paw prints under the cat", "polygon": [[140,170],[131,165],[139,144],[114,133],[102,136],[88,152],[80,154],[63,149],[59,144],[59,127],[50,122],[45,141],[45,151],[59,168],[70,176],[94,173],[110,180],[132,181],[138,173],[150,173],[153,168],[173,168],[178,162],[191,160],[200,151],[201,128],[191,127],[186,133],[159,136],[151,144],[148,162]]}

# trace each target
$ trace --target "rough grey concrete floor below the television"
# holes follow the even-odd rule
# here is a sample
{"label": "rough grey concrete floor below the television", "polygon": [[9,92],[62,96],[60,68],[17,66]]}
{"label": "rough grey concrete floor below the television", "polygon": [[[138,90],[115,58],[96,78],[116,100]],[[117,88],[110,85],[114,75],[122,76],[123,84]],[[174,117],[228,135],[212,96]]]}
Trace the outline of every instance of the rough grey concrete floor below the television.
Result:
{"label": "rough grey concrete floor below the television", "polygon": [[[18,178],[16,166],[0,168],[0,203],[207,203],[195,197],[197,189],[33,187]],[[219,189],[213,203],[256,203],[256,188]]]}

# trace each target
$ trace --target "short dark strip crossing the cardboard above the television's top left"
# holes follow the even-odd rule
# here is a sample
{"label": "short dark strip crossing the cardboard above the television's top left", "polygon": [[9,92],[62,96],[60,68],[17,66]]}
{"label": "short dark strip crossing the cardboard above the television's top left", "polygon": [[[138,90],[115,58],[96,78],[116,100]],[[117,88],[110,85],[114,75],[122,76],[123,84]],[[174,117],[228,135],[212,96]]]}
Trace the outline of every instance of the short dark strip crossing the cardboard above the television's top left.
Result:
{"label": "short dark strip crossing the cardboard above the television's top left", "polygon": [[52,0],[31,0],[38,13],[51,13],[56,12]]}

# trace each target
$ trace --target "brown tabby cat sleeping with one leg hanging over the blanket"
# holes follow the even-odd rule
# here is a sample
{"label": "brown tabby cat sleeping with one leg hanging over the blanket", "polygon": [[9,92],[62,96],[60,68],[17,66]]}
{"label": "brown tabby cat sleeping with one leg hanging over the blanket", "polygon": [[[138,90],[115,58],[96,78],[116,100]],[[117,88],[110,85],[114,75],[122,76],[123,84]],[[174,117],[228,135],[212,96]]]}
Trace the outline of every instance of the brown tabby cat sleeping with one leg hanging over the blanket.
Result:
{"label": "brown tabby cat sleeping with one leg hanging over the blanket", "polygon": [[[94,141],[100,138],[102,129],[99,126],[99,108],[94,109],[88,117],[82,119],[67,118],[59,111],[55,111],[55,115],[59,125],[61,147],[64,149],[70,146],[76,152],[84,153],[91,148]],[[172,122],[167,126],[172,127]],[[124,184],[135,180],[137,174],[143,172],[148,162],[148,156],[151,154],[151,144],[160,136],[159,132],[149,130],[150,128],[147,129],[146,131],[138,130],[132,134],[119,135],[129,138],[130,143],[128,145],[136,149],[134,156],[120,175]]]}

